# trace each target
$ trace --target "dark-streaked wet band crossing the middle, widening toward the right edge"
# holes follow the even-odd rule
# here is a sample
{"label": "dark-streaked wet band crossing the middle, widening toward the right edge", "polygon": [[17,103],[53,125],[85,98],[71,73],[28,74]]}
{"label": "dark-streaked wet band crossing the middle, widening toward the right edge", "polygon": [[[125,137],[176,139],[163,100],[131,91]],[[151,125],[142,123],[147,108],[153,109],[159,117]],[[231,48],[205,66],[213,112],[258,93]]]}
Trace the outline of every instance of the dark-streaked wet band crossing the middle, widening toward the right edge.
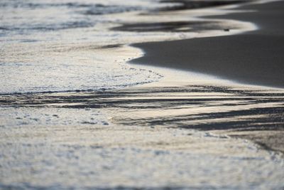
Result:
{"label": "dark-streaked wet band crossing the middle, widening toward the right edge", "polygon": [[[212,132],[249,139],[264,149],[284,153],[284,90],[250,86],[245,88],[242,85],[185,84],[178,86],[174,81],[168,86],[153,83],[96,93],[2,95],[0,102],[2,107],[62,109],[67,115],[72,113],[70,110],[107,110],[111,122],[116,125]],[[6,115],[6,110],[2,111]],[[40,121],[40,116],[33,114],[26,117],[10,112],[7,115],[11,115],[11,118],[7,117],[8,123],[2,121],[3,127],[18,126],[21,123],[31,125],[31,121],[35,124]],[[54,120],[53,115],[57,117],[58,114],[49,115],[42,117],[46,121]],[[79,125],[99,124],[92,120],[96,116],[84,115],[86,118],[80,118],[83,121]],[[39,119],[34,121],[35,118]],[[64,117],[60,118],[57,123],[60,120],[64,123]],[[13,120],[15,122],[11,122]],[[74,117],[73,120],[77,122],[78,118]],[[102,125],[106,124],[109,125],[102,122]],[[123,144],[124,141],[120,143]]]}

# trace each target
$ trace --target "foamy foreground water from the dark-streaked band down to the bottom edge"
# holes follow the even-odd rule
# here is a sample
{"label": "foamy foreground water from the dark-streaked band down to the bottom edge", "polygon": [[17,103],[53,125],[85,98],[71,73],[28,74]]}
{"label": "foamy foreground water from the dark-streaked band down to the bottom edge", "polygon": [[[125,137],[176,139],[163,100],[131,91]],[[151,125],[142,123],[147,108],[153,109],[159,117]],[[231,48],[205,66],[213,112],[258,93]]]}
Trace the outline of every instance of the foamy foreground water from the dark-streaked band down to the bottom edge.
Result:
{"label": "foamy foreground water from the dark-streaked band down to the bottom edge", "polygon": [[224,85],[2,95],[0,187],[283,189],[283,154],[207,132],[279,128],[283,97]]}

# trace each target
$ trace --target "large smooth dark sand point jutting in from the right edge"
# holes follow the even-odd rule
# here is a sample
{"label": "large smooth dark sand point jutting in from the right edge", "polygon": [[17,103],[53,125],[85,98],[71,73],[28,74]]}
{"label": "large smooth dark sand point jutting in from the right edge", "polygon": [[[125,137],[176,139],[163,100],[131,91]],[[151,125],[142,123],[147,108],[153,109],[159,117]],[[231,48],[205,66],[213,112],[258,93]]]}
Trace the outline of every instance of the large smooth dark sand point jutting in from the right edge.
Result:
{"label": "large smooth dark sand point jutting in from the right edge", "polygon": [[131,62],[283,88],[283,7],[284,1],[253,4],[238,8],[252,12],[211,16],[209,18],[249,21],[256,23],[259,29],[234,36],[134,44],[146,55]]}

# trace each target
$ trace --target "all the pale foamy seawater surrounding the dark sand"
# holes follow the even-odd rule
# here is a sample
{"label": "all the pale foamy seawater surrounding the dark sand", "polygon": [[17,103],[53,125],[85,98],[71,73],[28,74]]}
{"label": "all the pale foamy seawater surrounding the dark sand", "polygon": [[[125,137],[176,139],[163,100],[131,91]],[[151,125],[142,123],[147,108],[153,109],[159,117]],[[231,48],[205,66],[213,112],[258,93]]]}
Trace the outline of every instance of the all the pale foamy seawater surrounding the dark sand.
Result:
{"label": "all the pale foamy seawater surrounding the dark sand", "polygon": [[283,189],[282,154],[195,130],[282,125],[283,90],[126,63],[130,43],[256,29],[155,11],[173,5],[0,1],[0,189]]}

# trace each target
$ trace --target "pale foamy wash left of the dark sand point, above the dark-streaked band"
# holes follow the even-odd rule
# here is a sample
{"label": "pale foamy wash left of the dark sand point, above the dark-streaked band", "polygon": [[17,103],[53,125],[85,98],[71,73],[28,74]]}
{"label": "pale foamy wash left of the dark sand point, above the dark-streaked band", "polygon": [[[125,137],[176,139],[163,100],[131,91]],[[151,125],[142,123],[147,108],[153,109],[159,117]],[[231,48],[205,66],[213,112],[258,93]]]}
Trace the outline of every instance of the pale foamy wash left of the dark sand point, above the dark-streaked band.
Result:
{"label": "pale foamy wash left of the dark sand point, above the dark-streaked band", "polygon": [[[184,32],[111,29],[123,23],[149,20],[189,20],[184,13],[175,17],[141,14],[168,6],[150,0],[1,1],[0,93],[114,89],[157,81],[161,76],[153,70],[126,64],[126,60],[142,55],[140,50],[126,45],[218,35],[216,30],[226,26],[225,21],[214,23],[214,27],[207,23],[201,33],[202,29]],[[238,32],[253,25],[235,21],[234,27]],[[219,35],[224,32],[219,31]]]}

